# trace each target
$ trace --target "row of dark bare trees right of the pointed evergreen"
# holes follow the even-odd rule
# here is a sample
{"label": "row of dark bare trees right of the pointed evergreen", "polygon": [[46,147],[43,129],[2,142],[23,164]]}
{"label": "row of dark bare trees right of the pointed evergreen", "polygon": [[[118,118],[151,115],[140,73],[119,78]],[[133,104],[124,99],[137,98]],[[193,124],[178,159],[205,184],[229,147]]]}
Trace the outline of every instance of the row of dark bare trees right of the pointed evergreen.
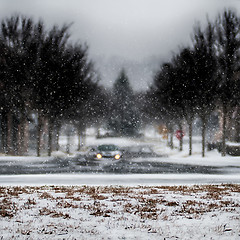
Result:
{"label": "row of dark bare trees right of the pointed evergreen", "polygon": [[[174,126],[188,124],[189,155],[192,154],[192,128],[201,119],[202,156],[205,155],[206,126],[213,112],[222,119],[221,149],[226,139],[240,142],[240,18],[224,10],[207,26],[194,26],[192,44],[180,47],[170,61],[161,65],[150,91],[152,112],[166,123],[170,135]],[[173,146],[172,137],[170,146]],[[180,141],[180,149],[182,141]]]}

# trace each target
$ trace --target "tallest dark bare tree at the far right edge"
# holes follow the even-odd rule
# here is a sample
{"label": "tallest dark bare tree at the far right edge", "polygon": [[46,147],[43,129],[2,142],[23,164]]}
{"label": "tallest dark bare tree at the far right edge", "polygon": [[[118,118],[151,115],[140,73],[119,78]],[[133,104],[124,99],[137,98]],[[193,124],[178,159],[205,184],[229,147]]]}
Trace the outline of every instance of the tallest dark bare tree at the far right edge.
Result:
{"label": "tallest dark bare tree at the far right edge", "polygon": [[[225,10],[217,20],[218,43],[218,97],[222,105],[223,134],[222,155],[226,155],[227,114],[239,105],[236,98],[239,93],[239,79],[235,78],[239,69],[240,19],[232,10]],[[237,101],[236,101],[237,100]]]}

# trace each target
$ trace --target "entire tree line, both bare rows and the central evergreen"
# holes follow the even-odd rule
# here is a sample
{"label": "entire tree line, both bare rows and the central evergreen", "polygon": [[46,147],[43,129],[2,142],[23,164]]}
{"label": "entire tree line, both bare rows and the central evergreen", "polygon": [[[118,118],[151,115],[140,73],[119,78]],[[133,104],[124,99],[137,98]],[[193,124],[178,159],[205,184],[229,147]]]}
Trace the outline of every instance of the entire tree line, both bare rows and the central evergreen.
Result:
{"label": "entire tree line, both bare rows and the central evergreen", "polygon": [[22,155],[34,143],[37,156],[44,144],[51,155],[59,149],[61,126],[68,123],[77,130],[80,149],[89,124],[107,122],[115,134],[136,136],[152,120],[166,124],[171,147],[174,128],[181,130],[187,122],[191,155],[197,116],[204,156],[207,124],[216,111],[222,119],[222,155],[226,139],[240,142],[240,18],[234,11],[225,10],[205,28],[197,24],[191,46],[180,47],[161,65],[150,90],[138,94],[124,70],[112,92],[100,87],[87,45],[72,43],[69,29],[47,29],[43,21],[22,15],[2,20],[0,152]]}

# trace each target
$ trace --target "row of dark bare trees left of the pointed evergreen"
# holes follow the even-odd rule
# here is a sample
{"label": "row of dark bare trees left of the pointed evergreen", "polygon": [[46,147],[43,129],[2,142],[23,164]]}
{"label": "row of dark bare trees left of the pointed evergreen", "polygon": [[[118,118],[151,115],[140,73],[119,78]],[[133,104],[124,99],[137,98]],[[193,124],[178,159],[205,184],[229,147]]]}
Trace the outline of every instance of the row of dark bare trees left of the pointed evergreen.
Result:
{"label": "row of dark bare trees left of the pointed evergreen", "polygon": [[[86,45],[70,42],[69,25],[47,29],[39,20],[15,15],[0,26],[0,142],[1,152],[25,154],[33,125],[40,156],[44,126],[48,155],[58,143],[63,123],[79,133],[96,105],[101,89]],[[96,102],[96,100],[95,100]],[[54,134],[54,136],[53,136]],[[30,142],[31,143],[31,142]],[[58,144],[56,144],[58,148]]]}

